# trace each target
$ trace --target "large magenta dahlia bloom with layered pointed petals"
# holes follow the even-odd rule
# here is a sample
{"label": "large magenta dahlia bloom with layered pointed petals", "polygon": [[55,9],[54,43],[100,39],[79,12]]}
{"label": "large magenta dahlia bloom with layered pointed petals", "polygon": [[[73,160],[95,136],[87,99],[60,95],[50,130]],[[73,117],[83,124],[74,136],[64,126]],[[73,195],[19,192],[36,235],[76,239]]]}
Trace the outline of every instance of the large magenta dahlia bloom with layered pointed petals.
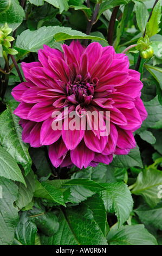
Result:
{"label": "large magenta dahlia bloom with layered pointed petals", "polygon": [[[85,48],[73,40],[69,46],[63,44],[62,50],[44,45],[38,51],[39,62],[22,63],[27,82],[12,91],[21,102],[14,114],[21,118],[22,139],[31,147],[48,145],[55,167],[109,164],[113,154],[128,154],[136,146],[133,132],[147,117],[140,99],[140,74],[129,69],[128,57],[115,53],[112,46],[93,42]],[[67,119],[72,111],[79,118],[86,113],[84,129],[66,129],[67,120],[72,126],[72,117]],[[94,119],[89,124],[93,111],[102,113],[103,126],[109,119],[105,136],[100,127],[95,129]],[[58,121],[53,117],[57,112],[62,129],[52,127]]]}

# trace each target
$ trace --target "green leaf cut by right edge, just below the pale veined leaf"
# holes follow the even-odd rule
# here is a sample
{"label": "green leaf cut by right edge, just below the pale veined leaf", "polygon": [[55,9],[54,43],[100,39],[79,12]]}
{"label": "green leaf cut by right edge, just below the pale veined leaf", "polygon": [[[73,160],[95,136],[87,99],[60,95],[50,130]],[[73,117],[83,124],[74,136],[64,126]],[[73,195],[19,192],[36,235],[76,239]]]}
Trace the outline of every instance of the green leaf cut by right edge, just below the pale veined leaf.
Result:
{"label": "green leaf cut by right edge, just below the pale veined leaf", "polygon": [[155,228],[162,230],[162,202],[157,204],[154,209],[148,205],[140,205],[134,212],[145,225],[153,225]]}

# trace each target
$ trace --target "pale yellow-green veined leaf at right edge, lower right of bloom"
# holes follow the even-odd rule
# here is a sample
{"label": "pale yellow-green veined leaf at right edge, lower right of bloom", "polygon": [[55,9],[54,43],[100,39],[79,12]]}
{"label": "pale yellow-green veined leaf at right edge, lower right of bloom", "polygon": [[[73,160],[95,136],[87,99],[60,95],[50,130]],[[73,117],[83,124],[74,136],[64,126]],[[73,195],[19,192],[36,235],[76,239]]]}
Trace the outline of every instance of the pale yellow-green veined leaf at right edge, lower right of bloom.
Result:
{"label": "pale yellow-green veined leaf at right edge, lower right of bloom", "polygon": [[144,169],[139,173],[131,192],[142,196],[146,203],[153,208],[160,202],[160,197],[158,197],[160,185],[162,185],[161,171],[155,168]]}

